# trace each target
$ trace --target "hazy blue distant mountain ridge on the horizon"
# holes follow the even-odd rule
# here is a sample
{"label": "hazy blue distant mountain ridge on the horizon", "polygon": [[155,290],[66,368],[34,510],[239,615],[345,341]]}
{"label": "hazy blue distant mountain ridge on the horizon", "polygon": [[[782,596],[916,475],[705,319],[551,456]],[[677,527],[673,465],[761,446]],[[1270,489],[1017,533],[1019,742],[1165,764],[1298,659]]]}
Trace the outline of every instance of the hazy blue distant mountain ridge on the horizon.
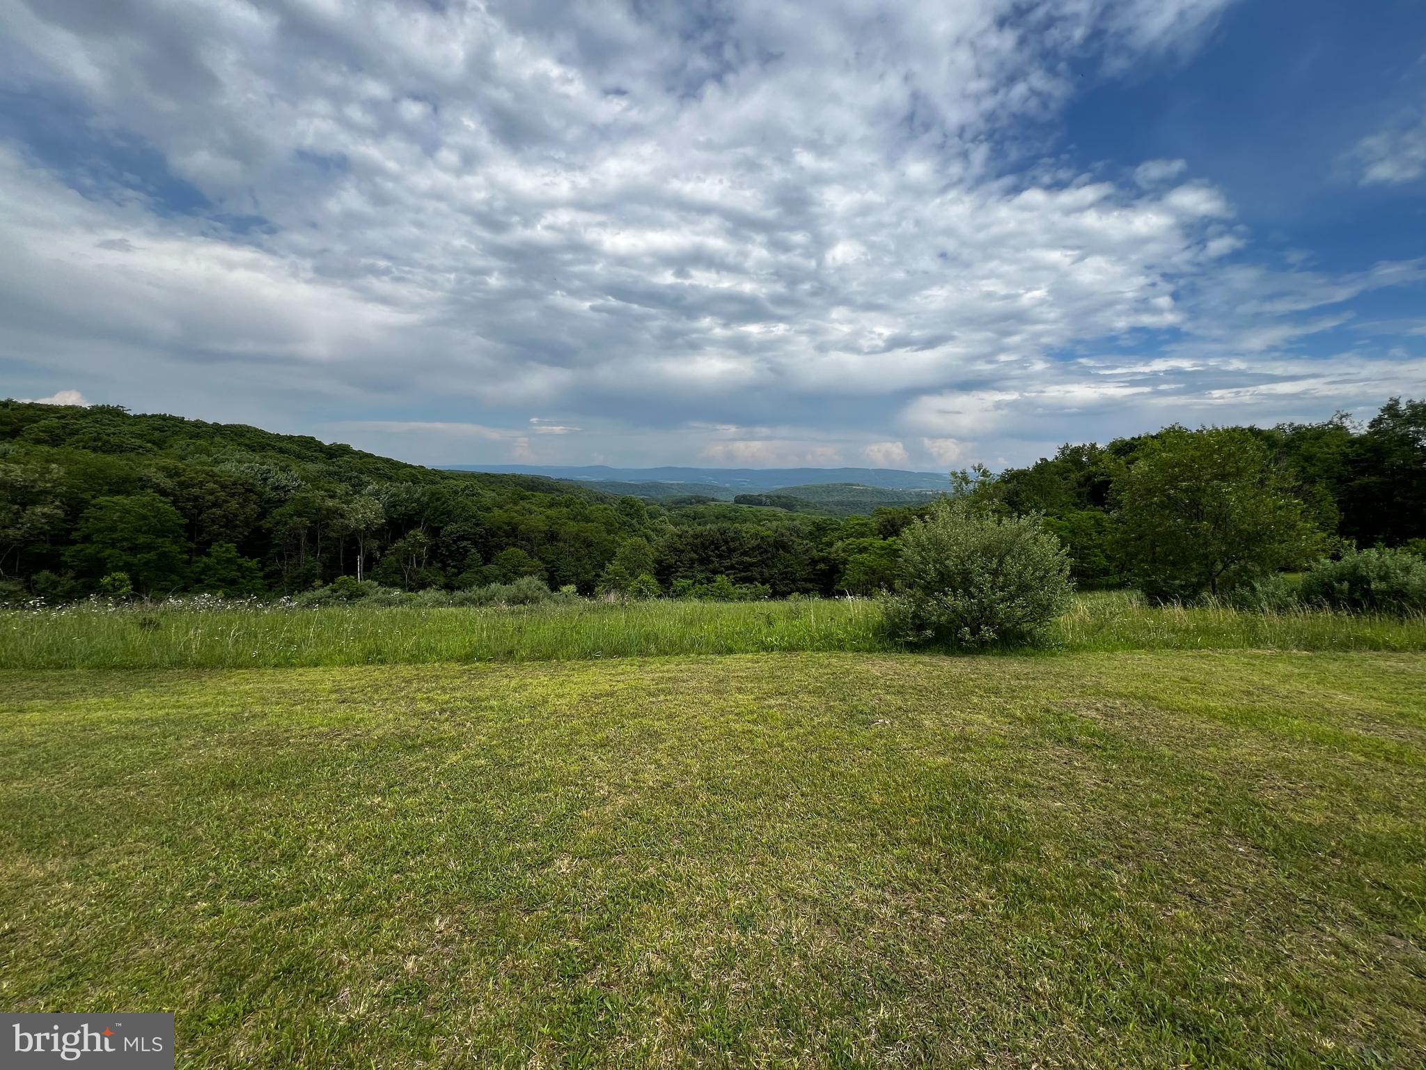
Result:
{"label": "hazy blue distant mountain ridge on the horizon", "polygon": [[[609,465],[442,465],[462,472],[543,475],[580,482],[682,484],[673,494],[687,494],[689,484],[742,492],[776,491],[813,484],[860,484],[893,491],[945,491],[945,472],[908,472],[898,468],[612,468]],[[720,495],[719,495],[720,496]]]}

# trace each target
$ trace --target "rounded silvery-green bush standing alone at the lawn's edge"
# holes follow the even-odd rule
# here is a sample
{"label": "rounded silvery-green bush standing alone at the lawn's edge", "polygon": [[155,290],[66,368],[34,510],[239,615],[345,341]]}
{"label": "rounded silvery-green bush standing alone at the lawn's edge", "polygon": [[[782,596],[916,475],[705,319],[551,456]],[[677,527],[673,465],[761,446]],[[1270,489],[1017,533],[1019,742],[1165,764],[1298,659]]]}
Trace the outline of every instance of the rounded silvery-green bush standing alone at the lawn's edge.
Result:
{"label": "rounded silvery-green bush standing alone at the lawn's edge", "polygon": [[1070,592],[1070,558],[1040,516],[953,502],[901,532],[888,623],[911,642],[1012,642],[1062,613]]}

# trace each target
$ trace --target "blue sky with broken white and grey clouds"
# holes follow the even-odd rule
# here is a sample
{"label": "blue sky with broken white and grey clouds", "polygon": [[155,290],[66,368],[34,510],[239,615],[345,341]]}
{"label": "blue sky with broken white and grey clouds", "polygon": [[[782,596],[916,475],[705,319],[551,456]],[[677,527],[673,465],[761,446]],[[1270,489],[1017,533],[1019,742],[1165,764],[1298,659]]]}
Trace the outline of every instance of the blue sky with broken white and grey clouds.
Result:
{"label": "blue sky with broken white and grey clouds", "polygon": [[421,464],[1426,397],[1422,0],[0,0],[0,395]]}

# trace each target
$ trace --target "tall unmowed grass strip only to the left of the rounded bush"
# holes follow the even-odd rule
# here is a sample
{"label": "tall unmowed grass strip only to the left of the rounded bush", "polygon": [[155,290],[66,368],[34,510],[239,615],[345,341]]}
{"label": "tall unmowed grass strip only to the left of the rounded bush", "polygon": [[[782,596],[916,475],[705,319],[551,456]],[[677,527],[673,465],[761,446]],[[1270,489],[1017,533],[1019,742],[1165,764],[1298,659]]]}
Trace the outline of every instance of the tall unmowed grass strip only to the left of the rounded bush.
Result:
{"label": "tall unmowed grass strip only to the left of the rounded bush", "polygon": [[886,651],[867,599],[479,609],[104,606],[0,613],[0,668],[237,668]]}

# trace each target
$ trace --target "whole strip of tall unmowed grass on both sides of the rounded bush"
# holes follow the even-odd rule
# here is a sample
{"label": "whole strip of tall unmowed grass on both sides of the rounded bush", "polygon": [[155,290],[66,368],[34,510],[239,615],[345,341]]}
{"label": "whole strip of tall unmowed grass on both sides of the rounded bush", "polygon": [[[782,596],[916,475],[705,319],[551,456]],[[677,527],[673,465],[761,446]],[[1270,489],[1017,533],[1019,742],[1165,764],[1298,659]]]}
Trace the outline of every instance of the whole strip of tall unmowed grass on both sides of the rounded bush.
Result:
{"label": "whole strip of tall unmowed grass on both sides of the rounded bush", "polygon": [[[0,668],[244,668],[572,661],[764,652],[891,652],[867,599],[575,602],[492,609],[0,612]],[[1426,651],[1426,618],[1158,608],[1081,595],[1031,651]]]}

